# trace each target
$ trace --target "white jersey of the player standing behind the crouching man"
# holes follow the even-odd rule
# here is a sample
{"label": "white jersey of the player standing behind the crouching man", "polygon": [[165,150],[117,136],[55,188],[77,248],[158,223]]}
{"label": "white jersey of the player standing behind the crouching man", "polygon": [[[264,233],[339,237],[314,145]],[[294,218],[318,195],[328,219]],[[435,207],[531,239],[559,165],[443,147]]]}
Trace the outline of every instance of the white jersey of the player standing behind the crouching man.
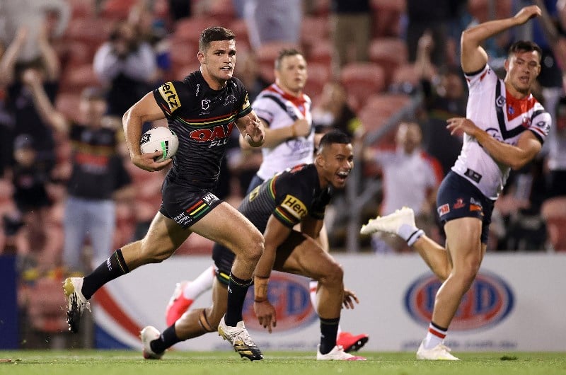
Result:
{"label": "white jersey of the player standing behind the crouching man", "polygon": [[314,132],[311,98],[304,94],[299,98],[290,96],[273,83],[258,95],[252,108],[270,129],[291,126],[301,118],[306,119],[311,125],[311,133],[308,137],[290,138],[272,149],[262,147],[263,161],[257,173],[260,178],[267,180],[287,168],[313,162]]}

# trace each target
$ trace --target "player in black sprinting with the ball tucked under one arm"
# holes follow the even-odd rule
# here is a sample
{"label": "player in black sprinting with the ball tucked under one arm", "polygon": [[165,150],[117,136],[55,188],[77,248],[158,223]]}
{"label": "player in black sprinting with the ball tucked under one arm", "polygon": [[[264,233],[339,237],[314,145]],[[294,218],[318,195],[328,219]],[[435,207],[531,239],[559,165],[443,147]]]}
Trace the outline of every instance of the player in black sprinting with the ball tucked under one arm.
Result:
{"label": "player in black sprinting with the ball tucked under one arm", "polygon": [[[231,293],[226,296],[226,315],[221,318],[219,333],[242,357],[262,359],[241,315],[253,270],[263,253],[263,237],[212,190],[234,125],[254,147],[262,145],[265,132],[250,106],[246,88],[233,77],[234,33],[219,26],[207,28],[201,34],[197,57],[200,70],[147,93],[122,119],[132,163],[151,172],[171,162],[173,167],[163,182],[161,208],[146,236],[116,250],[90,275],[65,280],[67,320],[70,330],[79,330],[81,313],[100,287],[141,265],[169,258],[195,232],[236,254],[228,270]],[[163,118],[178,135],[179,148],[173,159],[155,161],[161,151],[141,154],[141,127],[144,122]]]}

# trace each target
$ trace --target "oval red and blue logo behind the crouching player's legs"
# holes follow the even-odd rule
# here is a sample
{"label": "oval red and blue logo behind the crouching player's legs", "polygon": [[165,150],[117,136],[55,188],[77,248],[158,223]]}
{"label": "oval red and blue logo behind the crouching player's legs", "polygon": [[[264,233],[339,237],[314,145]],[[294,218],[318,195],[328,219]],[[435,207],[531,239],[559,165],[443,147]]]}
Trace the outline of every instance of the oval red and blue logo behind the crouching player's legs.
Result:
{"label": "oval red and blue logo behind the crouching player's legs", "polygon": [[[306,277],[272,272],[267,298],[275,307],[277,332],[304,328],[318,318],[308,295],[308,281]],[[246,328],[267,332],[253,312],[253,287],[246,296],[242,315]]]}

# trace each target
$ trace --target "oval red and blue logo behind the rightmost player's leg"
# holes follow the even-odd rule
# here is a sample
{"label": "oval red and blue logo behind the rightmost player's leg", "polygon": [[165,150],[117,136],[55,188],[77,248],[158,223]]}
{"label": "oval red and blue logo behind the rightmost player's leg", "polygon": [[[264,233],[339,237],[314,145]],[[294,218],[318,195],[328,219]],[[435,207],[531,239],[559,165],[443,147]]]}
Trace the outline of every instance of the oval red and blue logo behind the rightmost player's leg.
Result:
{"label": "oval red and blue logo behind the rightmost player's leg", "polygon": [[[436,276],[423,275],[405,293],[405,308],[417,323],[427,325],[430,322],[440,285]],[[513,307],[514,296],[507,282],[491,272],[480,272],[464,294],[450,330],[476,330],[497,325]]]}

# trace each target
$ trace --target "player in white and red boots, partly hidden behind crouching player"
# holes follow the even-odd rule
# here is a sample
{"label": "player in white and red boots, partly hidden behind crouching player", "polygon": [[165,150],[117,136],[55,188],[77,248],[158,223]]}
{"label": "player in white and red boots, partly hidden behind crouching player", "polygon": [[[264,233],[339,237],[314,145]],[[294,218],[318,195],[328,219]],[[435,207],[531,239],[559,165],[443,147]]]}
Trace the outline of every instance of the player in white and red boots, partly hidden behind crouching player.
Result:
{"label": "player in white and red boots, partly hidden behind crouching player", "polygon": [[[261,91],[252,103],[252,108],[260,117],[265,129],[265,143],[262,145],[262,163],[253,176],[246,194],[255,189],[275,173],[303,163],[312,163],[316,139],[313,132],[311,98],[304,93],[308,79],[308,65],[301,52],[291,49],[279,51],[275,59],[275,82]],[[322,134],[320,134],[322,137]],[[240,137],[242,149],[246,142]],[[329,250],[328,236],[323,227],[318,240],[325,250]],[[173,296],[166,308],[167,325],[180,318],[195,299],[212,288],[214,282],[213,266],[208,267],[192,282],[183,281],[176,285]],[[316,282],[309,284],[313,305]],[[352,335],[339,328],[338,342],[346,352],[359,350],[369,340],[365,334]]]}

